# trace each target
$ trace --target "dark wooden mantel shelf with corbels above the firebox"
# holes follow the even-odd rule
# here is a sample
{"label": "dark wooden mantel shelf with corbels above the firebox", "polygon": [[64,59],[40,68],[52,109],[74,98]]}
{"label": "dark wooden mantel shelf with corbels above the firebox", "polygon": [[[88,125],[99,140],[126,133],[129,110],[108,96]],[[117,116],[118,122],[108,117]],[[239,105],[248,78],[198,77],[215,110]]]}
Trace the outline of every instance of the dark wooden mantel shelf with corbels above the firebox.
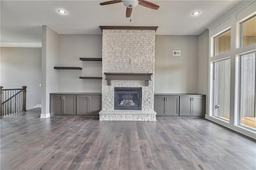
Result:
{"label": "dark wooden mantel shelf with corbels above the firebox", "polygon": [[153,73],[104,73],[108,85],[111,85],[111,80],[143,80],[145,86],[148,86],[148,81],[151,80]]}

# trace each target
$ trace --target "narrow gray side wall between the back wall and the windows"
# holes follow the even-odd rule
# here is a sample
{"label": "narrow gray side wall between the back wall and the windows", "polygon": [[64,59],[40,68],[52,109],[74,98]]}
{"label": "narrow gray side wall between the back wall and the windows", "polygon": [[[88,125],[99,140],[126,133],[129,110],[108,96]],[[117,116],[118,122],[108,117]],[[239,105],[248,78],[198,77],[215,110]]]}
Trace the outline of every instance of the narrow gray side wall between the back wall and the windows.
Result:
{"label": "narrow gray side wall between the back wall and the windows", "polygon": [[208,68],[209,68],[209,30],[198,36],[198,86],[197,93],[206,95],[206,114],[208,114]]}

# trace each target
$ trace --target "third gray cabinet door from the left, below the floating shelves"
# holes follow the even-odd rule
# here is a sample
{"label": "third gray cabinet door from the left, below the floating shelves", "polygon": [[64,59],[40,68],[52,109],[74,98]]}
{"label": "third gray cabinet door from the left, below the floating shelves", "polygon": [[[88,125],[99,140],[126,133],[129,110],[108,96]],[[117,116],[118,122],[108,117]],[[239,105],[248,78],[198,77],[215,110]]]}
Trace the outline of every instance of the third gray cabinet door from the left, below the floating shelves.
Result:
{"label": "third gray cabinet door from the left, below the floating shelves", "polygon": [[88,115],[88,95],[76,95],[76,115]]}

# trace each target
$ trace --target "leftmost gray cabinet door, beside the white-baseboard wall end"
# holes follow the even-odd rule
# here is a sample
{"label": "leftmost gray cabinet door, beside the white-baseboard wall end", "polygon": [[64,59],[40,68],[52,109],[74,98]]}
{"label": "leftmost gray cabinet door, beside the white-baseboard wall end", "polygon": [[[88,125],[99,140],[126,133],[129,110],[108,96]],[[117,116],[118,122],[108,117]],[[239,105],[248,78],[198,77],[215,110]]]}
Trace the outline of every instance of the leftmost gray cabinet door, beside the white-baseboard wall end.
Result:
{"label": "leftmost gray cabinet door, beside the white-baseboard wall end", "polygon": [[50,113],[54,115],[63,115],[62,113],[62,95],[50,96]]}

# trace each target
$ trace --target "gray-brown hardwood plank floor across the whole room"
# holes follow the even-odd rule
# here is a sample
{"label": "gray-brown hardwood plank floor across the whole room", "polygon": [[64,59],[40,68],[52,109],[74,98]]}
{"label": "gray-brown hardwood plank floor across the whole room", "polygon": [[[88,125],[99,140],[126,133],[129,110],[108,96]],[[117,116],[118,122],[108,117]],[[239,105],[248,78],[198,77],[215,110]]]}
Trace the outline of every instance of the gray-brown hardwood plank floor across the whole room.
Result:
{"label": "gray-brown hardwood plank floor across the whole room", "polygon": [[256,169],[254,140],[200,118],[40,119],[37,108],[0,123],[1,170]]}

